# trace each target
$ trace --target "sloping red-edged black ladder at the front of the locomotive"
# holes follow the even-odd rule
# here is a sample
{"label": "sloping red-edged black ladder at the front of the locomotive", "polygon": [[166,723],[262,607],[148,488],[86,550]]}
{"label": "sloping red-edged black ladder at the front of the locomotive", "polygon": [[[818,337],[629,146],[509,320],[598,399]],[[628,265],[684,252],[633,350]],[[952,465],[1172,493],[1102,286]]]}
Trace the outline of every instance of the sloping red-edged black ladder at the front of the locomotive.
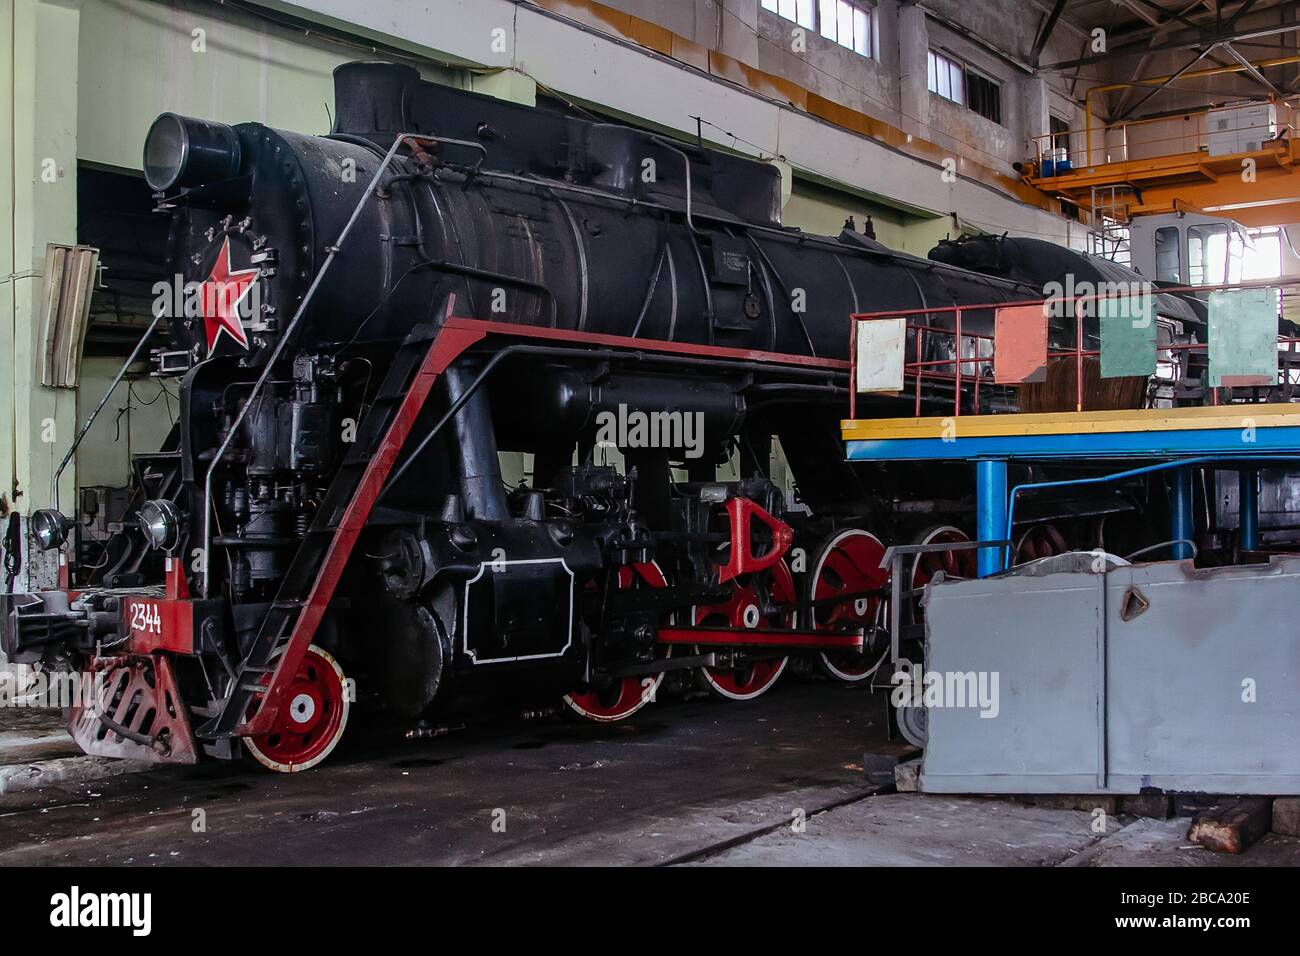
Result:
{"label": "sloping red-edged black ladder at the front of the locomotive", "polygon": [[[448,297],[438,325],[417,326],[394,356],[248,656],[230,682],[229,696],[217,705],[216,715],[199,727],[200,737],[251,736],[265,734],[273,726],[352,548],[433,384],[465,349],[486,334],[448,325],[446,320],[454,308],[455,297]],[[250,704],[259,697],[256,713],[246,719]]]}

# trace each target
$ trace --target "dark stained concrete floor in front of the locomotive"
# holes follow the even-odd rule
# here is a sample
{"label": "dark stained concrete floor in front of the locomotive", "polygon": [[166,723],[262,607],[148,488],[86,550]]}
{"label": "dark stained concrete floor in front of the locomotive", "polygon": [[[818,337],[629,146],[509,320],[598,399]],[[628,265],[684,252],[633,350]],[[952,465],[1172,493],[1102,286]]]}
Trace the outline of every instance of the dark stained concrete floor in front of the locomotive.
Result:
{"label": "dark stained concrete floor in front of the locomotive", "polygon": [[[0,714],[0,762],[62,757]],[[43,737],[48,737],[44,739]],[[982,797],[878,793],[880,698],[783,682],[751,704],[663,701],[619,724],[503,722],[369,741],[306,774],[166,767],[0,796],[0,865],[1268,865],[1186,848],[1186,819],[1110,822]],[[86,758],[73,758],[86,760]],[[798,822],[806,825],[798,827]]]}

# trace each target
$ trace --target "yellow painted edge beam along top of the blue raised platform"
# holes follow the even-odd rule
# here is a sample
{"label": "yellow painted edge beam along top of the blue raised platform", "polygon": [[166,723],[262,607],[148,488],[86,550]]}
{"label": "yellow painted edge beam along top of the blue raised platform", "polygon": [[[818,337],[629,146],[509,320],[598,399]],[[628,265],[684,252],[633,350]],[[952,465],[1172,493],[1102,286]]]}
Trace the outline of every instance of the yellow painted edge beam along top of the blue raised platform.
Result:
{"label": "yellow painted edge beam along top of the blue raised platform", "polygon": [[845,419],[845,441],[898,438],[992,438],[1020,434],[1105,434],[1212,428],[1300,427],[1300,405],[1219,405],[1193,408],[1114,408],[1026,415],[963,415],[924,419]]}

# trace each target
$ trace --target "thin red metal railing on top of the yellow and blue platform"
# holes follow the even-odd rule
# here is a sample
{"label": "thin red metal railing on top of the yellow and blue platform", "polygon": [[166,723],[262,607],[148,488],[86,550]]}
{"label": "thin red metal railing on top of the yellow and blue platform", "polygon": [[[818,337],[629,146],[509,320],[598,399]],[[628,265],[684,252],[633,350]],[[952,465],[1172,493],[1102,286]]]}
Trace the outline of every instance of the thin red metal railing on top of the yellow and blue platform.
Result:
{"label": "thin red metal railing on top of the yellow and blue platform", "polygon": [[[1080,282],[1082,285],[1082,282]],[[1202,286],[1176,286],[1176,287],[1156,287],[1150,285],[1138,285],[1126,291],[1115,293],[1113,282],[1104,282],[1101,285],[1108,286],[1106,291],[1091,293],[1087,295],[1060,295],[1060,297],[1044,297],[1041,299],[1023,299],[1015,302],[988,302],[968,306],[931,306],[924,308],[896,308],[884,310],[879,312],[855,312],[849,316],[849,363],[850,363],[850,389],[849,389],[849,418],[857,418],[858,410],[858,350],[857,350],[857,330],[858,325],[864,321],[874,321],[880,319],[907,319],[907,336],[913,347],[913,360],[904,360],[904,382],[905,392],[907,389],[907,380],[911,380],[911,393],[914,395],[914,414],[919,418],[922,411],[922,397],[923,397],[923,382],[950,382],[953,386],[953,415],[959,416],[962,414],[962,385],[967,378],[972,378],[970,386],[971,393],[971,408],[978,415],[980,412],[980,384],[994,385],[994,382],[985,381],[984,375],[982,375],[982,365],[993,365],[993,352],[994,352],[994,336],[992,332],[972,332],[968,329],[968,316],[975,312],[984,312],[989,316],[989,326],[992,325],[992,316],[1002,308],[1020,308],[1027,306],[1040,306],[1044,310],[1053,308],[1060,312],[1065,312],[1067,308],[1074,312],[1075,329],[1074,329],[1074,346],[1069,349],[1048,349],[1046,359],[1048,362],[1061,362],[1072,359],[1075,363],[1075,399],[1076,410],[1082,411],[1084,405],[1084,359],[1096,358],[1101,355],[1100,349],[1088,349],[1087,346],[1087,332],[1084,323],[1092,316],[1087,315],[1088,310],[1080,308],[1087,303],[1101,302],[1104,299],[1124,300],[1143,297],[1157,298],[1164,294],[1183,294],[1183,293],[1196,293],[1208,294],[1213,291],[1243,291],[1249,289],[1277,289],[1279,295],[1279,316],[1284,312],[1286,303],[1286,290],[1296,289],[1300,286],[1300,278],[1278,278],[1258,282],[1225,282],[1221,285],[1202,285]],[[1092,310],[1096,311],[1096,310]],[[1156,315],[1160,315],[1158,306],[1154,310]],[[936,316],[953,317],[952,328],[942,325],[935,325]],[[963,328],[963,319],[966,325]],[[953,342],[952,345],[952,358],[940,359],[926,359],[926,345],[930,336],[939,336]],[[1096,336],[1093,336],[1096,337]],[[972,343],[971,351],[974,355],[966,356],[963,354],[966,343]],[[980,343],[988,342],[988,354],[982,355]],[[1286,351],[1291,354],[1300,354],[1296,349],[1296,343],[1300,342],[1300,337],[1287,337],[1278,336],[1278,345],[1286,346]],[[1199,352],[1208,351],[1209,342],[1170,342],[1160,343],[1157,341],[1156,352],[1157,356],[1164,355],[1178,355],[1180,352]],[[1158,360],[1158,359],[1157,359]],[[1165,359],[1169,362],[1170,359]],[[966,367],[974,365],[972,371],[966,371]],[[1288,365],[1290,368],[1290,365]],[[946,371],[944,371],[946,369]],[[1015,382],[996,382],[996,388],[1006,389],[1014,392],[1019,388]],[[1210,403],[1218,405],[1218,389],[1209,389]]]}

